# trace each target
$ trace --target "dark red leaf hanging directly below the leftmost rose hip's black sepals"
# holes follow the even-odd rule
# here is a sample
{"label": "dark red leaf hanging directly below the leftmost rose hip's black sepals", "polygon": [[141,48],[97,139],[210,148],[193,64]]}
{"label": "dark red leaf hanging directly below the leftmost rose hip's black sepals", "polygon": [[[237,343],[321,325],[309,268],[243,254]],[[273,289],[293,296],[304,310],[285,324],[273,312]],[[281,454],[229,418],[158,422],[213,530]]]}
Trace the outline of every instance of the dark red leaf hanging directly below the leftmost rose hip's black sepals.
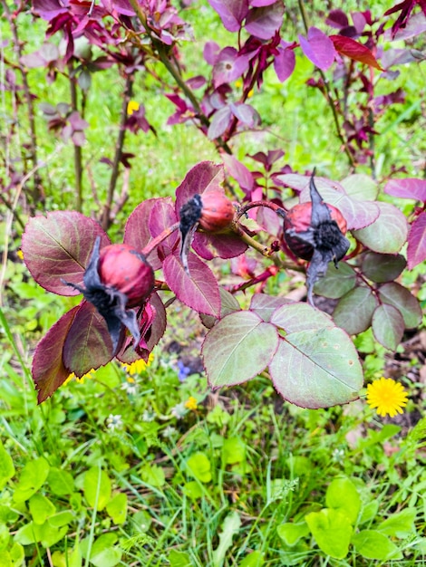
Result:
{"label": "dark red leaf hanging directly below the leftmost rose hip's black sepals", "polygon": [[65,368],[80,378],[112,358],[111,337],[104,318],[92,303],[83,302],[63,343]]}

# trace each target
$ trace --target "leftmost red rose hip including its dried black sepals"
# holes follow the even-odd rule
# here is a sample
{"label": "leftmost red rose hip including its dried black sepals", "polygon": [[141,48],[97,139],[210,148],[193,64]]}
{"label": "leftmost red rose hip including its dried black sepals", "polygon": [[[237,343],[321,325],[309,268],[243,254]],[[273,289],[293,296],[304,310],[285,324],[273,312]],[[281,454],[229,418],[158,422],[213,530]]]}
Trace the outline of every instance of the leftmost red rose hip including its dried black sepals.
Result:
{"label": "leftmost red rose hip including its dried black sepals", "polygon": [[100,251],[101,238],[96,238],[92,255],[82,281],[85,288],[65,282],[92,303],[108,325],[112,349],[116,353],[123,337],[123,325],[133,335],[135,348],[140,341],[140,328],[132,307],[148,299],[154,287],[154,273],[145,256],[129,245],[108,245]]}

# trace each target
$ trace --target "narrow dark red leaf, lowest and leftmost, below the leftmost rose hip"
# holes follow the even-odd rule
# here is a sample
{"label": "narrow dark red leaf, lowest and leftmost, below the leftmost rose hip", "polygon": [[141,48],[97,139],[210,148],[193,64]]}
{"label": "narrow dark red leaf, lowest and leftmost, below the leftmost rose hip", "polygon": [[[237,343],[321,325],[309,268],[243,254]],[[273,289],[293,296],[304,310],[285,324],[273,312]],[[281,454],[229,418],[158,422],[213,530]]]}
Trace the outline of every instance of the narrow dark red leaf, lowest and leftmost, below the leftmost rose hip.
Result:
{"label": "narrow dark red leaf, lowest and leftmost, below the leftmost rose hip", "polygon": [[63,343],[80,305],[65,313],[38,343],[33,359],[33,380],[38,403],[52,396],[70,375],[63,364]]}

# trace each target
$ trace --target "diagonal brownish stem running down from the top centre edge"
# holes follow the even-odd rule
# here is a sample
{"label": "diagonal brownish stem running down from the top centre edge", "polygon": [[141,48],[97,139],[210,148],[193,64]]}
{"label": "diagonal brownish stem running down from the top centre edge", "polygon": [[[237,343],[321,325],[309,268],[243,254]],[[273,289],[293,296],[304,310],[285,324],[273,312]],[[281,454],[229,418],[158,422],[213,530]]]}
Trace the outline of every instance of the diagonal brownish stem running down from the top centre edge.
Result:
{"label": "diagonal brownish stem running down from the top centre edge", "polygon": [[[198,120],[200,120],[200,122],[206,128],[208,128],[208,126],[210,125],[210,121],[208,120],[208,117],[204,114],[204,112],[201,110],[197,97],[195,96],[193,91],[191,91],[188,84],[182,79],[182,76],[179,72],[179,68],[175,66],[173,62],[170,61],[169,55],[166,52],[166,48],[164,44],[161,43],[159,40],[155,39],[154,37],[152,37],[152,34],[150,33],[150,27],[147,23],[146,15],[143,13],[143,10],[141,10],[137,0],[129,0],[129,2],[133,10],[135,11],[136,15],[138,16],[140,20],[140,24],[143,25],[146,33],[150,36],[152,45],[157,49],[160,62],[162,62],[162,64],[166,67],[169,74],[173,77],[174,81],[179,86],[179,89],[185,94],[186,97],[188,97],[189,101],[194,107],[194,111],[196,111],[197,113]],[[226,141],[224,141],[221,138],[218,138],[217,140],[215,140],[215,143],[218,145],[219,148],[223,149],[227,154],[232,155],[232,149],[229,148]]]}

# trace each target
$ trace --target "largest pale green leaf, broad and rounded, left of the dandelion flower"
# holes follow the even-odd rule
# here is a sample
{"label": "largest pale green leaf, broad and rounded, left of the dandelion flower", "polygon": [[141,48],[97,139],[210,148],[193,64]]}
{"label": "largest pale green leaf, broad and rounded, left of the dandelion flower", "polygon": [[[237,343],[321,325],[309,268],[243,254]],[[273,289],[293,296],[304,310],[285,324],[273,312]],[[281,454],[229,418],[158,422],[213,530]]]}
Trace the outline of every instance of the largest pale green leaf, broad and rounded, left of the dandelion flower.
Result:
{"label": "largest pale green leaf, broad and rounded, left of the dandelion flower", "polygon": [[302,408],[353,401],[363,386],[363,369],[353,342],[338,327],[286,335],[269,370],[276,390]]}

